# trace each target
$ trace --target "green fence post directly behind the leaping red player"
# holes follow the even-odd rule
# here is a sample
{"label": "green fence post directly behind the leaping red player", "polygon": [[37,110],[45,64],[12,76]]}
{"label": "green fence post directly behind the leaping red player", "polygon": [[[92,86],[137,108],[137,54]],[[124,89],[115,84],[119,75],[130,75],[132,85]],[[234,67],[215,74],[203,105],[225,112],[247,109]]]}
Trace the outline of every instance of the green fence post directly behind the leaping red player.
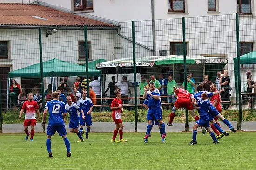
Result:
{"label": "green fence post directly behind the leaping red player", "polygon": [[[186,31],[185,31],[185,17],[182,17],[182,37],[183,37],[183,61],[184,61],[184,85],[187,90],[187,51],[186,51]],[[189,131],[189,113],[186,109],[185,131]]]}

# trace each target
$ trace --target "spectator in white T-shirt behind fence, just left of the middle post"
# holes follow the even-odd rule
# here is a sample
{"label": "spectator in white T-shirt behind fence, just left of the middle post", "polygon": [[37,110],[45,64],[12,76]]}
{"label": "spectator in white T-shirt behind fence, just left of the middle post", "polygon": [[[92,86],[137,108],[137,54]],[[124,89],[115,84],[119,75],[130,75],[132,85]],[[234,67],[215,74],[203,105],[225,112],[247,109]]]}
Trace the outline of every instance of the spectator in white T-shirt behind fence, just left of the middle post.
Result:
{"label": "spectator in white T-shirt behind fence, just left of the middle post", "polygon": [[[121,92],[122,92],[122,97],[123,97],[123,104],[129,104],[129,99],[128,99],[128,95],[130,94],[130,97],[132,96],[132,92],[129,89],[129,87],[132,86],[132,83],[127,81],[127,76],[123,76],[123,81],[122,82],[118,82],[115,84],[116,88],[120,88]],[[130,107],[128,107],[130,110]]]}

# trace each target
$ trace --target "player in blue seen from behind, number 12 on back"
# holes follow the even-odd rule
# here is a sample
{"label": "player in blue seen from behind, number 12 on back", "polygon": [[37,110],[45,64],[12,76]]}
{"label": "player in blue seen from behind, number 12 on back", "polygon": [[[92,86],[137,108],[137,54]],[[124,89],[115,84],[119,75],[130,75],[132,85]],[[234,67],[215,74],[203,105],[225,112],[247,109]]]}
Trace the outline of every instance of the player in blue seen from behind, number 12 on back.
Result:
{"label": "player in blue seen from behind, number 12 on back", "polygon": [[47,101],[44,109],[44,113],[43,113],[43,120],[41,123],[42,126],[44,126],[47,112],[49,112],[49,123],[47,127],[47,132],[46,132],[47,151],[48,151],[49,157],[53,157],[52,149],[51,149],[51,137],[57,131],[59,135],[62,136],[64,143],[66,145],[67,157],[71,157],[70,142],[66,136],[67,133],[66,133],[64,120],[63,120],[67,115],[66,107],[64,102],[58,100],[60,97],[58,92],[54,92],[52,95],[53,95],[53,100]]}

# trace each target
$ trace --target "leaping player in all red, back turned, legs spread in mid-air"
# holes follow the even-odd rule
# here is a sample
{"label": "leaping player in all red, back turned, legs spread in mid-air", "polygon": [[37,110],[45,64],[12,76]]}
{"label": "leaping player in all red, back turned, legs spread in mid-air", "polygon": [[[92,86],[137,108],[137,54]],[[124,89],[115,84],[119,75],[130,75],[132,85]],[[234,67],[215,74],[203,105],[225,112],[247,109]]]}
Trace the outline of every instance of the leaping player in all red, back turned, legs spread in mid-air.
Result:
{"label": "leaping player in all red, back turned, legs spread in mid-air", "polygon": [[[172,108],[172,112],[170,113],[170,119],[167,125],[172,126],[172,122],[175,117],[175,112],[181,107],[184,107],[185,109],[189,110],[189,113],[191,114],[191,116],[193,116],[195,121],[199,120],[200,118],[195,114],[193,105],[191,103],[191,97],[193,97],[193,95],[182,88],[173,87],[173,89],[178,99],[177,101],[175,101],[174,107]],[[202,132],[203,134],[206,133],[205,128],[202,128]]]}

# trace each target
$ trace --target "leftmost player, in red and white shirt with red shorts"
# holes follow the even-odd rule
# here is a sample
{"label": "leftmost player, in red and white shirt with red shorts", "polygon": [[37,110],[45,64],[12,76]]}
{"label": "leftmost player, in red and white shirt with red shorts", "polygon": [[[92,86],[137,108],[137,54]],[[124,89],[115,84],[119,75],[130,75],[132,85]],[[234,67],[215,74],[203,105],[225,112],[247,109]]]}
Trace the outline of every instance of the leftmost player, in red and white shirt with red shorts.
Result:
{"label": "leftmost player, in red and white shirt with red shorts", "polygon": [[27,94],[28,101],[25,101],[22,105],[22,109],[20,110],[19,118],[21,118],[22,113],[24,110],[26,110],[25,120],[24,120],[24,132],[27,134],[25,140],[28,139],[29,132],[28,132],[28,126],[30,126],[30,141],[33,141],[34,137],[34,126],[36,125],[36,115],[37,113],[37,119],[40,121],[40,113],[38,110],[38,104],[36,101],[33,100],[33,94],[29,93]]}

